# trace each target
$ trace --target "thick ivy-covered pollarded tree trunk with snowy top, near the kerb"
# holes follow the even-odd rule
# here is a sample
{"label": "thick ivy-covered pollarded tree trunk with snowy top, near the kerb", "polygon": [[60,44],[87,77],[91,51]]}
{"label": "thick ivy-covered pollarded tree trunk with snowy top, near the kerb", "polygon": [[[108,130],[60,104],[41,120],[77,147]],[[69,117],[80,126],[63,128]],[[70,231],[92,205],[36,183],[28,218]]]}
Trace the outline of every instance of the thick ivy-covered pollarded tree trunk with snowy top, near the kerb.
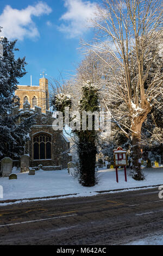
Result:
{"label": "thick ivy-covered pollarded tree trunk with snowy top, near the kerb", "polygon": [[[99,113],[99,86],[87,81],[82,87],[82,97],[79,102],[79,112]],[[89,130],[88,118],[86,117],[85,129],[75,130],[78,136],[77,149],[79,155],[79,182],[83,186],[95,186],[97,141],[99,131],[95,127],[95,115],[92,115],[92,127]],[[83,121],[83,120],[82,120]]]}

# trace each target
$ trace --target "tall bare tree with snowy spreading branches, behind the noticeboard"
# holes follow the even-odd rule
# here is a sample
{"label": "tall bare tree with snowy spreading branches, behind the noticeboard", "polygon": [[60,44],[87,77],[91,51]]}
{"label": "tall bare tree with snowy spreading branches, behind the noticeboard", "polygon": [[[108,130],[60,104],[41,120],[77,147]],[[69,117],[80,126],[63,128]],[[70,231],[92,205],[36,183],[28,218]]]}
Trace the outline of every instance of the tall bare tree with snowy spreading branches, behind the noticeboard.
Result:
{"label": "tall bare tree with snowy spreading branches, behind the noticeboard", "polygon": [[[160,51],[154,42],[162,34],[162,3],[158,0],[105,0],[103,3],[98,8],[97,19],[91,21],[100,33],[93,44],[83,42],[83,45],[103,60],[105,69],[108,66],[104,104],[108,107],[112,102],[124,103],[126,111],[118,113],[118,124],[130,132],[133,178],[142,180],[141,128],[157,97],[162,95],[161,65],[148,79]],[[111,56],[114,62],[108,62],[102,54]],[[122,124],[122,118],[130,119],[130,125]]]}

